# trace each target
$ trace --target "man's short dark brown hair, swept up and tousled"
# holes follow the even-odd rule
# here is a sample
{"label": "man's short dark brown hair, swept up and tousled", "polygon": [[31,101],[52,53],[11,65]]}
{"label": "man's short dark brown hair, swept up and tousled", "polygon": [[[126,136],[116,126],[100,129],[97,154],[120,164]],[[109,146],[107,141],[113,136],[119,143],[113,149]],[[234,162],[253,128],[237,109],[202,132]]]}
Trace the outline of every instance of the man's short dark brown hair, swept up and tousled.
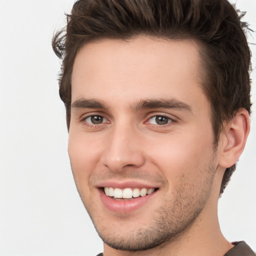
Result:
{"label": "man's short dark brown hair, swept up and tousled", "polygon": [[[202,88],[210,102],[214,146],[223,121],[240,109],[250,113],[250,50],[240,13],[227,0],[78,0],[52,46],[62,59],[59,95],[69,129],[71,74],[77,51],[98,38],[128,39],[140,34],[200,43]],[[235,165],[225,170],[220,194]]]}

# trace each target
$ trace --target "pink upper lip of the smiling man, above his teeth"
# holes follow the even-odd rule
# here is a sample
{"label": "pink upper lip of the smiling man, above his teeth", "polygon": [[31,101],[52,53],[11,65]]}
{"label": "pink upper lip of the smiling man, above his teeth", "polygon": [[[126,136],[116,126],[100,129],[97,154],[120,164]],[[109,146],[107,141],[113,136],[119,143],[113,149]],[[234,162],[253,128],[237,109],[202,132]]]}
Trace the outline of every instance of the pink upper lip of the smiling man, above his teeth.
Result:
{"label": "pink upper lip of the smiling man, above his teeth", "polygon": [[106,180],[96,184],[97,187],[114,187],[114,188],[158,188],[159,184],[153,182],[143,182],[139,180],[126,180],[126,181],[115,181]]}

